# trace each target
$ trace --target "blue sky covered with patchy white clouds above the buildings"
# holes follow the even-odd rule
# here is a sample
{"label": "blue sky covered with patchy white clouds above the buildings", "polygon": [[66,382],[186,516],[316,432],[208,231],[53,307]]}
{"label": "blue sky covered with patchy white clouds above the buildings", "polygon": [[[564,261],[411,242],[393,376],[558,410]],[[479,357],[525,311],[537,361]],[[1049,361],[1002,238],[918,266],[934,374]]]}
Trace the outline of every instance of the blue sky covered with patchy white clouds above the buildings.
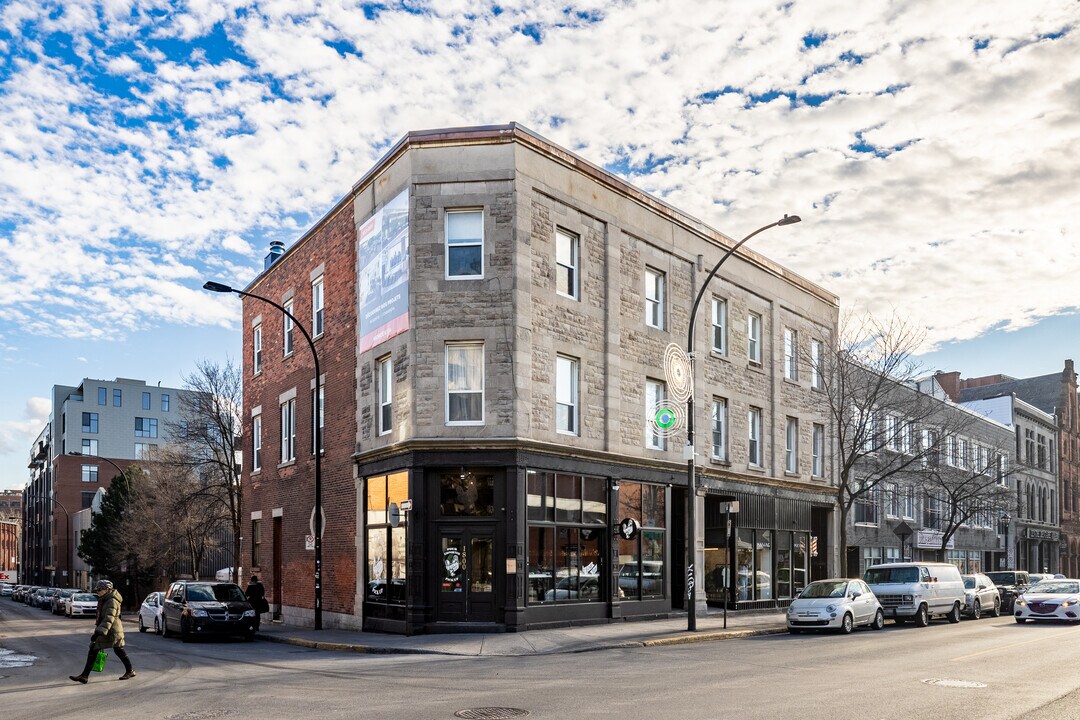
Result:
{"label": "blue sky covered with patchy white clouds above the buildings", "polygon": [[[1030,6],[1029,6],[1030,5]],[[53,384],[239,358],[243,285],[405,132],[522,122],[928,367],[1080,355],[1080,4],[8,0],[0,487]],[[1077,359],[1080,359],[1078,357]]]}

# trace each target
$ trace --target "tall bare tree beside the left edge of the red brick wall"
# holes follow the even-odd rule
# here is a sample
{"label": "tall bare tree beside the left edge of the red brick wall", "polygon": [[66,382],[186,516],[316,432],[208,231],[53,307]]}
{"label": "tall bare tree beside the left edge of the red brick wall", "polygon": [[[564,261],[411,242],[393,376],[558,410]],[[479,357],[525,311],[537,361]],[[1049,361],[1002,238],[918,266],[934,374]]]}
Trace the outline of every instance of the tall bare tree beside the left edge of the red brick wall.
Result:
{"label": "tall bare tree beside the left edge of the red brick wall", "polygon": [[199,478],[189,502],[219,506],[224,522],[231,527],[231,575],[239,583],[243,494],[235,451],[242,427],[241,371],[231,362],[200,361],[184,382],[189,392],[179,396],[180,421],[170,426],[178,450],[174,461]]}

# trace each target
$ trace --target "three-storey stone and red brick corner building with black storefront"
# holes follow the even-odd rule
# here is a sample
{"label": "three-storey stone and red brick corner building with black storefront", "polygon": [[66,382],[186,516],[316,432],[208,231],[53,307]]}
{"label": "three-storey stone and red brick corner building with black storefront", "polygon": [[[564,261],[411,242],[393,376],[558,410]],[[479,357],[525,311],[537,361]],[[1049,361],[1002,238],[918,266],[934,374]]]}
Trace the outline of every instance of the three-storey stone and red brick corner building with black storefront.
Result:
{"label": "three-storey stone and red brick corner building with black storefront", "polygon": [[[246,289],[306,321],[322,372],[324,623],[498,631],[685,609],[685,434],[650,419],[670,397],[664,349],[685,347],[731,245],[510,124],[409,133],[271,250]],[[704,295],[699,603],[782,606],[836,567],[810,358],[837,315],[836,296],[752,250]],[[251,565],[272,610],[310,624],[311,353],[257,299],[243,327]]]}

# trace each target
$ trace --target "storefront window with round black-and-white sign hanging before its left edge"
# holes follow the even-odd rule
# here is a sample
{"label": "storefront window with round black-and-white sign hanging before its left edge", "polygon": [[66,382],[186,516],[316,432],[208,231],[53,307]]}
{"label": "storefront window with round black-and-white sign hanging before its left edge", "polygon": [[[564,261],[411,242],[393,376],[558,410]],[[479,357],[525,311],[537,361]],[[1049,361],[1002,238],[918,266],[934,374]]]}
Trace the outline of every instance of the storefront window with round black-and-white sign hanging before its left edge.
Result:
{"label": "storefront window with round black-and-white sign hanging before its left edge", "polygon": [[619,597],[622,599],[664,597],[666,492],[665,486],[642,483],[623,483],[619,488],[616,521],[630,518],[642,524],[637,538],[619,539]]}

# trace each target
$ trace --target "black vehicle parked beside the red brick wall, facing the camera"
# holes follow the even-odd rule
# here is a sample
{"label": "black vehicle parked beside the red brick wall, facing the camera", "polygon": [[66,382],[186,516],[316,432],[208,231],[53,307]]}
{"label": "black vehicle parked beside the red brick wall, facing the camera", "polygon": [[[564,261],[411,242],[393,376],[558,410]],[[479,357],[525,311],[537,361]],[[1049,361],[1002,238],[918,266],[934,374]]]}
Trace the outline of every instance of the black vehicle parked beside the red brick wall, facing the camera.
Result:
{"label": "black vehicle parked beside the red brick wall, facing the camera", "polygon": [[178,634],[185,642],[208,635],[255,639],[255,610],[232,583],[176,581],[165,593],[162,615],[166,638]]}

